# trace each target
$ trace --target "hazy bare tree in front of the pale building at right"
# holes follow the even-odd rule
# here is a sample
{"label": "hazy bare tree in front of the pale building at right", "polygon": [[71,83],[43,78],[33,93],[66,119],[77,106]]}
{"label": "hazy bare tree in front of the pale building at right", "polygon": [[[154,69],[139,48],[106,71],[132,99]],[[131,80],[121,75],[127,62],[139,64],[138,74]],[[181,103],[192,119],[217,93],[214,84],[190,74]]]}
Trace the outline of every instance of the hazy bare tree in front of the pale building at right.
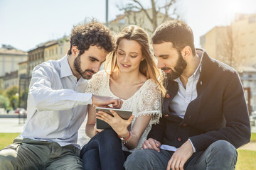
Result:
{"label": "hazy bare tree in front of the pale building at right", "polygon": [[243,49],[241,38],[232,26],[227,26],[225,33],[220,35],[218,43],[218,60],[230,65],[235,69],[245,64],[246,55]]}

